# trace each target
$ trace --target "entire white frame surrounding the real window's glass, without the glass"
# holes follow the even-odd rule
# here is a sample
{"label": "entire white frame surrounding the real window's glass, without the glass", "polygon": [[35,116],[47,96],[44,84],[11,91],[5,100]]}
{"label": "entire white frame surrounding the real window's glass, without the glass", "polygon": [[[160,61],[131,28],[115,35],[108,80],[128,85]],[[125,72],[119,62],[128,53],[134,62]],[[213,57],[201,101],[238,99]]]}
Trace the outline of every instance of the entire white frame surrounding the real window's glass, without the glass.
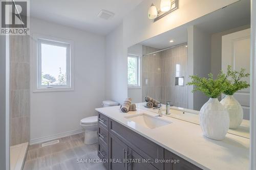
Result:
{"label": "entire white frame surrounding the real window's glass, without the glass", "polygon": [[[73,91],[75,86],[74,76],[74,42],[73,40],[56,38],[46,35],[32,34],[33,41],[31,41],[31,67],[32,69],[32,86],[33,92],[44,91]],[[41,49],[39,45],[44,42],[45,44],[65,46],[67,47],[66,56],[66,74],[67,85],[50,85],[49,87],[41,85]],[[39,68],[40,67],[40,68]]]}

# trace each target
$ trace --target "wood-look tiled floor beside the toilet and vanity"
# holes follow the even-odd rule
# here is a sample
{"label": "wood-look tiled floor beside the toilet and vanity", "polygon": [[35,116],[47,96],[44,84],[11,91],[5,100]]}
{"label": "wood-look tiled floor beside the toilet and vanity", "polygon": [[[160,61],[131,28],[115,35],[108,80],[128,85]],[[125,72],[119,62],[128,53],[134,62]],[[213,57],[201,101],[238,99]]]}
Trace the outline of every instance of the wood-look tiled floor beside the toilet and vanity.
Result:
{"label": "wood-look tiled floor beside the toilet and vanity", "polygon": [[[59,139],[60,143],[41,147],[31,145],[24,170],[94,170],[103,167],[99,163],[79,163],[77,159],[95,159],[97,143],[83,143],[83,133]],[[103,170],[103,169],[102,169]]]}

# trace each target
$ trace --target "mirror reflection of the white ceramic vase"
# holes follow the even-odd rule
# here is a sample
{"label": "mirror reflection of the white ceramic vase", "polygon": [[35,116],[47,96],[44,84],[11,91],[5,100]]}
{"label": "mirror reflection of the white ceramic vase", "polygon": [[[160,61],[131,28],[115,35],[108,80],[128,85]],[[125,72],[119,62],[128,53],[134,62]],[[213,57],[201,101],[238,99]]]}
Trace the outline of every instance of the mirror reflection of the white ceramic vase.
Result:
{"label": "mirror reflection of the white ceramic vase", "polygon": [[229,128],[238,129],[243,120],[244,111],[240,103],[234,99],[233,95],[226,95],[224,99],[221,100],[221,104],[227,109],[229,114]]}

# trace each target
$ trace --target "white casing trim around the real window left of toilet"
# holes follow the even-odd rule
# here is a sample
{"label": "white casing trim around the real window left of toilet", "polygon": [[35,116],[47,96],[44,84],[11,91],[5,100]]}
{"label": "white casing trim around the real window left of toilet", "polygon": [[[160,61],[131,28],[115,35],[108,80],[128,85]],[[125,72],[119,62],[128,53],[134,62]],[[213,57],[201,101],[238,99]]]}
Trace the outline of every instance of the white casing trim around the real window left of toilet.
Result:
{"label": "white casing trim around the real window left of toilet", "polygon": [[[32,49],[31,49],[31,58],[32,58],[32,62],[31,62],[31,68],[32,68],[32,86],[33,86],[33,92],[44,92],[44,91],[73,91],[74,87],[75,87],[75,76],[74,76],[74,42],[72,40],[68,40],[68,39],[62,39],[62,38],[56,38],[56,37],[51,37],[51,36],[46,36],[46,35],[40,35],[40,34],[32,34]],[[38,46],[37,46],[37,41],[49,41],[51,44],[54,43],[54,41],[56,42],[56,45],[60,45],[60,44],[69,44],[69,70],[67,69],[67,71],[70,72],[70,74],[67,74],[67,81],[69,81],[69,87],[68,86],[63,86],[63,87],[59,87],[59,86],[52,86],[52,88],[47,88],[47,87],[42,87],[42,86],[38,86],[40,80],[38,75]],[[67,58],[68,59],[68,58]],[[68,62],[67,62],[68,63]],[[69,77],[70,75],[70,77]]]}

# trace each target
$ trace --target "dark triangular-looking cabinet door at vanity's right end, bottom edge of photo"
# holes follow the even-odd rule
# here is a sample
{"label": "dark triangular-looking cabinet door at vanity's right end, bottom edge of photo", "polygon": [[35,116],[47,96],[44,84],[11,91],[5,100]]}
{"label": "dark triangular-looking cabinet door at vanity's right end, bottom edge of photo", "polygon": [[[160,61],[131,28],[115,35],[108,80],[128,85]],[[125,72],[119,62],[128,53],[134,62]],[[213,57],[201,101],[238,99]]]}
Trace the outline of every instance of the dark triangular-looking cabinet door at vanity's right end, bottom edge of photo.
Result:
{"label": "dark triangular-looking cabinet door at vanity's right end, bottom edge of photo", "polygon": [[164,163],[164,170],[202,170],[196,165],[167,150],[164,150],[164,160],[177,161],[176,163]]}

